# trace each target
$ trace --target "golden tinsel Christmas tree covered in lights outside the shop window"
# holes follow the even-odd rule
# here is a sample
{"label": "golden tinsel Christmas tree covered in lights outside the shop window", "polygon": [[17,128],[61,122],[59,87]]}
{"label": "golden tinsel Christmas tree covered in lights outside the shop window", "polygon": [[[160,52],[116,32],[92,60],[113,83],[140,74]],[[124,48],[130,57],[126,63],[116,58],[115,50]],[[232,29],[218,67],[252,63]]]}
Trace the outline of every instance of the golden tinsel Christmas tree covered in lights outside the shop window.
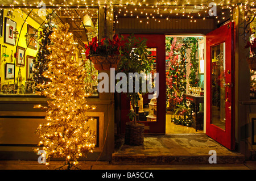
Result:
{"label": "golden tinsel Christmas tree covered in lights outside the shop window", "polygon": [[[46,124],[39,125],[36,133],[49,158],[65,158],[68,168],[76,165],[77,158],[86,157],[94,149],[94,132],[90,130],[86,115],[94,106],[86,104],[84,65],[75,61],[76,44],[72,33],[68,33],[68,24],[53,29],[50,36],[52,44],[48,47],[48,70],[44,77],[51,81],[46,85],[38,85],[47,96],[48,106],[36,105],[35,108],[46,108]],[[38,152],[38,149],[35,149]]]}

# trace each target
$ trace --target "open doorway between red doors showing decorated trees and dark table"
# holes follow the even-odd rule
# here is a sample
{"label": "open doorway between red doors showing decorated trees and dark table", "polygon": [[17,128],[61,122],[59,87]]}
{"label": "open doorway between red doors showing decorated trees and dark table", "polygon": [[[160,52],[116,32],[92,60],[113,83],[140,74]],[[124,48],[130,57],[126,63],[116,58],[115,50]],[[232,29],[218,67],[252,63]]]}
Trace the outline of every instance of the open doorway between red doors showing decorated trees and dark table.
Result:
{"label": "open doorway between red doors showing decorated trees and dark table", "polygon": [[166,36],[166,134],[204,133],[204,36]]}

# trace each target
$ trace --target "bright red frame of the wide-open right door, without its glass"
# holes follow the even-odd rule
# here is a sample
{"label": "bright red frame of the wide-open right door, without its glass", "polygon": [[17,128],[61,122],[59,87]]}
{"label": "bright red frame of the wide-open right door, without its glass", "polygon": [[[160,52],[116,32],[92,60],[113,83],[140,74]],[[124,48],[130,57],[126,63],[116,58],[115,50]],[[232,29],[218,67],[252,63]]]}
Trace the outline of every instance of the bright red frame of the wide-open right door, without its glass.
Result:
{"label": "bright red frame of the wide-open right door, without its glass", "polygon": [[[225,75],[226,83],[230,83],[230,87],[226,87],[226,96],[228,96],[228,102],[226,102],[226,125],[225,130],[218,128],[212,123],[212,64],[211,64],[211,47],[225,41],[226,62],[230,61],[230,64],[226,64]],[[230,150],[234,150],[235,146],[235,134],[234,134],[234,23],[230,22],[224,26],[217,28],[210,32],[206,36],[206,48],[207,48],[207,62],[206,62],[206,76],[207,76],[207,92],[206,92],[206,134],[225,146]],[[230,70],[230,74],[227,73]],[[228,92],[228,94],[227,94]]]}

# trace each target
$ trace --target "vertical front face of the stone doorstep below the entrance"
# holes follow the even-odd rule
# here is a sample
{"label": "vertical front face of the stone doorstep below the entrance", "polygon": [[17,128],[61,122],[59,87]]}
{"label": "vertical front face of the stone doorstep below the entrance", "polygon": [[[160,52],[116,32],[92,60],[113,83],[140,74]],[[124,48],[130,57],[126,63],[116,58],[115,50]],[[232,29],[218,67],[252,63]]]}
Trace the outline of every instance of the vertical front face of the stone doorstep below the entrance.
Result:
{"label": "vertical front face of the stone doorstep below the entrance", "polygon": [[[210,155],[112,155],[112,165],[196,165],[210,164]],[[219,164],[242,164],[242,154],[217,155]]]}

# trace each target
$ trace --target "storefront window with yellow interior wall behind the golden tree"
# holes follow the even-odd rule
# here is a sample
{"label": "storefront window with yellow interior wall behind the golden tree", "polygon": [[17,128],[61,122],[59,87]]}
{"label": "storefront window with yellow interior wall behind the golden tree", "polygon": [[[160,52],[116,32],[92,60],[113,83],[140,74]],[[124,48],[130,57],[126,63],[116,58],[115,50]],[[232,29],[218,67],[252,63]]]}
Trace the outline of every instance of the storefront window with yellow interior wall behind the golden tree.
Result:
{"label": "storefront window with yellow interior wall behind the golden tree", "polygon": [[69,32],[77,43],[72,57],[77,64],[84,62],[85,88],[89,96],[98,96],[98,71],[85,57],[85,46],[98,36],[98,9],[3,9],[0,23],[0,95],[37,95],[36,85],[47,83],[51,44],[50,35],[60,23],[69,24]]}

